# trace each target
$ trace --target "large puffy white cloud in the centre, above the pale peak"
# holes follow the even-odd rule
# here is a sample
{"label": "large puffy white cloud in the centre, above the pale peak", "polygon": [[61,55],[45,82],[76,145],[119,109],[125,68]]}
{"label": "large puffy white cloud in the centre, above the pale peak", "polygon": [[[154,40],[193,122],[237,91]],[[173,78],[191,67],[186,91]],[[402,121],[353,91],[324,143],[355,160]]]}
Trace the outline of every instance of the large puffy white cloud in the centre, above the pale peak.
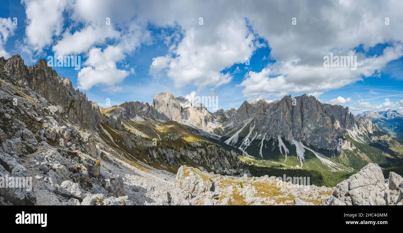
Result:
{"label": "large puffy white cloud in the centre, above the pale peak", "polygon": [[[204,25],[197,25],[204,27]],[[221,73],[234,63],[243,63],[256,49],[245,19],[229,19],[214,29],[213,39],[205,37],[211,29],[189,28],[183,40],[172,50],[172,54],[158,57],[150,73],[166,69],[176,87],[191,84],[198,87],[229,83],[230,73]]]}

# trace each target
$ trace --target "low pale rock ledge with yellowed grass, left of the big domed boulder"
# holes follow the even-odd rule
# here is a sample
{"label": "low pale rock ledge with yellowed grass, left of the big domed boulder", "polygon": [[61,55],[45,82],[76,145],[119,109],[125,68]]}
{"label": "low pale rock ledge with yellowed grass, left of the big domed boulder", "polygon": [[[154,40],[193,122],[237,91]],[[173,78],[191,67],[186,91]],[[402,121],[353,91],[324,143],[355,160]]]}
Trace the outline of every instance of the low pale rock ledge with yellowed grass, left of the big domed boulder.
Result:
{"label": "low pale rock ledge with yellowed grass, left of the big domed boulder", "polygon": [[191,205],[324,205],[332,191],[315,185],[293,185],[267,175],[228,177],[188,166],[178,170],[174,187],[185,193],[180,192],[171,204]]}

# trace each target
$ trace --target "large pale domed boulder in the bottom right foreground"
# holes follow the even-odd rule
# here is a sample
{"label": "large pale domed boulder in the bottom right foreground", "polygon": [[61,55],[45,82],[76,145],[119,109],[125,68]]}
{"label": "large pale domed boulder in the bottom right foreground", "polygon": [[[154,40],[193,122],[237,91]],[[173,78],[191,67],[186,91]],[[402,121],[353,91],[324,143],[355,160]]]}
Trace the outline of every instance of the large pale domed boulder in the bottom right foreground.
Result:
{"label": "large pale domed boulder in the bottom right foreground", "polygon": [[389,189],[377,164],[364,166],[359,173],[339,183],[329,205],[389,205]]}

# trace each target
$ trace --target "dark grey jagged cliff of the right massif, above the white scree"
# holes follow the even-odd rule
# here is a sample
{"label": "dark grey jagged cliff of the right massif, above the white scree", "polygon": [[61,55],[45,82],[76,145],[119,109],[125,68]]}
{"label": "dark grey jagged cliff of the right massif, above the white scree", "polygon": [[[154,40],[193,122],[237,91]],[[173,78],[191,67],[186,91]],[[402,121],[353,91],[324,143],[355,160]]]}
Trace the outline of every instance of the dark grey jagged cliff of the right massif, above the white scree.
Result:
{"label": "dark grey jagged cliff of the right massif, above the white scree", "polygon": [[[224,133],[238,128],[250,129],[250,135],[259,135],[254,140],[285,138],[287,141],[301,141],[318,148],[337,148],[339,138],[347,130],[373,132],[378,129],[368,119],[356,120],[349,108],[323,104],[313,96],[285,96],[277,102],[267,103],[260,99],[243,104],[236,110],[235,117],[224,122]],[[246,127],[247,128],[247,127]],[[252,140],[253,141],[253,140]]]}

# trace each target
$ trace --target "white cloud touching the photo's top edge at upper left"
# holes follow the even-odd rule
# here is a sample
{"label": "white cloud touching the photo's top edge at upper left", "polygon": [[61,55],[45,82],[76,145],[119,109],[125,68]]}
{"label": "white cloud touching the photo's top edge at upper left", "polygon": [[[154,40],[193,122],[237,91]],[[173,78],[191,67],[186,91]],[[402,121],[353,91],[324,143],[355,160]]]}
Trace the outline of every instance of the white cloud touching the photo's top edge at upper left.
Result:
{"label": "white cloud touching the photo's top edge at upper left", "polygon": [[52,43],[52,37],[62,32],[63,12],[67,0],[23,0],[27,27],[27,42],[34,50]]}

